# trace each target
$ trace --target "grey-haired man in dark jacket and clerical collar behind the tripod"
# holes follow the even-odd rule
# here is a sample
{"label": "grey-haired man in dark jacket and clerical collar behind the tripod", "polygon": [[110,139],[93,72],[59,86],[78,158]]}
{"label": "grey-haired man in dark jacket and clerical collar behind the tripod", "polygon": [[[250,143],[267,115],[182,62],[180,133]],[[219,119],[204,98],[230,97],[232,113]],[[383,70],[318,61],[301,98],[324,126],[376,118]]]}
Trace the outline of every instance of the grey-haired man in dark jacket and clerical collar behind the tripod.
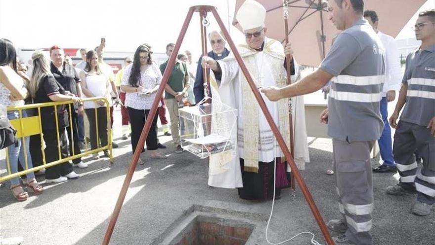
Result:
{"label": "grey-haired man in dark jacket and clerical collar behind the tripod", "polygon": [[[207,53],[207,56],[214,60],[220,60],[228,56],[229,50],[225,48],[225,40],[218,31],[212,31],[209,34],[210,45],[212,51]],[[195,84],[193,86],[193,94],[195,95],[195,102],[199,103],[204,98],[204,76],[203,68],[201,66],[202,55],[198,60],[198,67],[196,68]],[[210,89],[209,89],[210,91]],[[211,95],[209,94],[209,97]]]}

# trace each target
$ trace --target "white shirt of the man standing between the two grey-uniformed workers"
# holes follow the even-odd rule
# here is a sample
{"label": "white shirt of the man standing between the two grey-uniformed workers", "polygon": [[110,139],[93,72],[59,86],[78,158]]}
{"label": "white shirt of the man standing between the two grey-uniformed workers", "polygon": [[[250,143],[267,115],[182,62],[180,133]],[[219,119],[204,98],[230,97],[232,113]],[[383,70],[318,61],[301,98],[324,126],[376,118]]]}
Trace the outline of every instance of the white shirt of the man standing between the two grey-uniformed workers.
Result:
{"label": "white shirt of the man standing between the two grey-uniformed workers", "polygon": [[381,39],[385,49],[386,57],[386,81],[382,96],[385,97],[390,90],[400,90],[402,73],[400,71],[399,51],[397,50],[396,41],[391,36],[378,31],[378,37]]}

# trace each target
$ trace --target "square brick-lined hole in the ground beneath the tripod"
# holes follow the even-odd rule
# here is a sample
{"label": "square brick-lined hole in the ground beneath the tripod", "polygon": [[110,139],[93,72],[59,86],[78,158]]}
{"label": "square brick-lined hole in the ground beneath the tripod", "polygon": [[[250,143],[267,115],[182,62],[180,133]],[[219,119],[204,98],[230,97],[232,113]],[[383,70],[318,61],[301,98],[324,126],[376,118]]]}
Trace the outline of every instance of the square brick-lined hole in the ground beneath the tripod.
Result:
{"label": "square brick-lined hole in the ground beneath the tripod", "polygon": [[197,216],[170,245],[245,245],[254,228],[244,221]]}

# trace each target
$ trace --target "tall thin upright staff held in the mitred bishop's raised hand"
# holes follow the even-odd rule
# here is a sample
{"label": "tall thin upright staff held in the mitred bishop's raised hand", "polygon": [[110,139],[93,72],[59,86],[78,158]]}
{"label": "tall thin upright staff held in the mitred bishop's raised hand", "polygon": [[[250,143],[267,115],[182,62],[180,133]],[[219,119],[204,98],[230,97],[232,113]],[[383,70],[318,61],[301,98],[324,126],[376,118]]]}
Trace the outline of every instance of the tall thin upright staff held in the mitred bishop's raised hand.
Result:
{"label": "tall thin upright staff held in the mitred bishop's raised hand", "polygon": [[[289,23],[288,23],[288,17],[289,17],[289,12],[288,12],[288,2],[287,0],[283,0],[283,10],[284,10],[284,28],[285,28],[285,41],[286,41],[286,45],[289,43]],[[290,55],[286,56],[287,58],[287,62],[286,62],[286,71],[287,71],[287,84],[292,84],[292,77],[291,77],[291,68],[290,68]],[[294,135],[293,135],[293,110],[292,110],[292,98],[289,98],[289,128],[290,128],[290,152],[292,153],[292,159],[294,160],[294,156],[295,156],[295,141],[294,141]],[[296,116],[295,116],[295,120],[296,120]],[[293,169],[292,172],[290,174],[290,184],[292,186],[292,197],[293,199],[295,199],[295,175],[293,174]]]}

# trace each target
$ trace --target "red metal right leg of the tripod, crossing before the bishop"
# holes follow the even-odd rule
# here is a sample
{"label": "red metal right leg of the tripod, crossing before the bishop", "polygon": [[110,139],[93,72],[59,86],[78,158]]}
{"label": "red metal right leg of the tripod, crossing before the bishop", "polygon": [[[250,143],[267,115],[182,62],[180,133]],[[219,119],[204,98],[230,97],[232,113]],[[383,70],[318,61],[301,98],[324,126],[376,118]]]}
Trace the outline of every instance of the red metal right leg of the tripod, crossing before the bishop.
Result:
{"label": "red metal right leg of the tripod, crossing before the bishop", "polygon": [[292,168],[292,173],[295,175],[296,181],[298,181],[299,187],[301,188],[301,192],[304,195],[306,202],[311,209],[311,212],[317,222],[317,225],[320,228],[320,231],[323,234],[323,237],[325,238],[325,241],[328,245],[335,245],[334,241],[331,238],[331,234],[329,233],[328,229],[326,228],[325,222],[323,221],[322,215],[319,212],[319,209],[317,208],[313,197],[311,196],[308,187],[306,187],[306,184],[304,182],[304,179],[302,178],[301,173],[299,172],[299,169],[296,167],[296,163],[292,158],[292,154],[290,153],[289,149],[286,146],[286,143],[284,141],[284,138],[282,138],[281,133],[279,132],[278,127],[276,126],[275,122],[273,121],[272,116],[270,115],[269,110],[267,109],[267,106],[261,97],[261,94],[254,83],[254,80],[251,77],[251,74],[248,71],[248,68],[246,68],[245,63],[242,60],[242,57],[240,56],[236,46],[234,45],[231,37],[229,36],[228,31],[226,30],[225,26],[223,25],[222,20],[219,17],[219,14],[217,13],[216,8],[211,9],[213,15],[215,16],[215,19],[217,21],[217,24],[220,27],[220,30],[223,32],[223,37],[226,38],[226,41],[228,42],[229,47],[234,53],[234,57],[236,58],[237,63],[240,66],[240,71],[243,73],[243,75],[246,77],[246,80],[251,87],[252,92],[254,93],[255,98],[257,99],[257,102],[260,105],[261,111],[264,113],[264,116],[266,117],[267,123],[270,126],[270,129],[272,130],[273,134],[276,137],[276,140],[278,141],[279,147],[281,147],[281,150],[284,152],[285,157],[288,159],[287,163]]}

